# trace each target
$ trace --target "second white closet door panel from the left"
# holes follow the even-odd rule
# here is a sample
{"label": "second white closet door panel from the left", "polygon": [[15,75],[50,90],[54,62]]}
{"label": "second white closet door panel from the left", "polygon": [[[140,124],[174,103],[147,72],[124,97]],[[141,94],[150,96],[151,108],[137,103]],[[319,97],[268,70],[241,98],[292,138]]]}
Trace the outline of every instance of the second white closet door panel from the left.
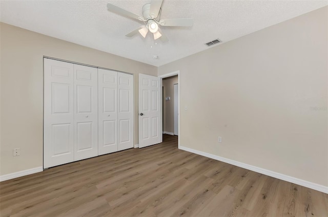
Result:
{"label": "second white closet door panel from the left", "polygon": [[98,155],[97,68],[74,64],[74,161]]}

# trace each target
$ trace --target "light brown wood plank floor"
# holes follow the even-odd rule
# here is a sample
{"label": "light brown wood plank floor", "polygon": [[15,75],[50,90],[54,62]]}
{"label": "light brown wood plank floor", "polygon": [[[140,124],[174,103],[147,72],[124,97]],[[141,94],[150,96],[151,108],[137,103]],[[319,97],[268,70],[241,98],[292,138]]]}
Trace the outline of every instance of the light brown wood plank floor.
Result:
{"label": "light brown wood plank floor", "polygon": [[1,216],[328,216],[328,194],[163,143],[0,183]]}

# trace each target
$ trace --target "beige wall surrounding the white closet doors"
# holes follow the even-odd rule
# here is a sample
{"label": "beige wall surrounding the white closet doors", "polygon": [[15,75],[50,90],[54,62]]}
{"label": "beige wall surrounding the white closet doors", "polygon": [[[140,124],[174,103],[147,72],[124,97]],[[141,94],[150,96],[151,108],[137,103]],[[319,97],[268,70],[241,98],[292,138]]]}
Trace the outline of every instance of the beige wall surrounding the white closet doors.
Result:
{"label": "beige wall surrounding the white closet doors", "polygon": [[[156,76],[157,67],[4,23],[0,28],[0,175],[43,166],[43,56],[133,73],[138,143],[138,74]],[[20,148],[20,156],[12,156],[13,148]]]}

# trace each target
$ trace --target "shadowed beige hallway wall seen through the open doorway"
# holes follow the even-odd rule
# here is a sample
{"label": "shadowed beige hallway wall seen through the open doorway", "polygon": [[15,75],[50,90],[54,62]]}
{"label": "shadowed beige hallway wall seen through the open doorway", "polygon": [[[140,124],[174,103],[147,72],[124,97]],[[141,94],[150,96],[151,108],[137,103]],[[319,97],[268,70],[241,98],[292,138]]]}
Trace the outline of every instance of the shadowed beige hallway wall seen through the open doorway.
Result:
{"label": "shadowed beige hallway wall seen through the open doorway", "polygon": [[[178,83],[178,76],[163,78],[163,131],[174,133],[174,84]],[[171,99],[166,101],[166,97]]]}

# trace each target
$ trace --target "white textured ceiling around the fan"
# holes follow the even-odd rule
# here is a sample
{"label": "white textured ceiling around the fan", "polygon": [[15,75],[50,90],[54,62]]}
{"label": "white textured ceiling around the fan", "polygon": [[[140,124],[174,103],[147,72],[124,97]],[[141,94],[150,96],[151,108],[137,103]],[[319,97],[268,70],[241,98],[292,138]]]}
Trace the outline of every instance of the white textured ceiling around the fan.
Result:
{"label": "white textured ceiling around the fan", "polygon": [[[162,43],[148,34],[125,34],[140,21],[107,10],[107,3],[141,15],[150,1],[3,1],[1,21],[75,44],[140,62],[162,64],[208,49],[216,38],[227,42],[328,5],[327,1],[193,1],[164,0],[161,18],[194,18],[193,27],[161,27]],[[219,45],[216,45],[219,46]],[[153,59],[158,55],[158,59]]]}

